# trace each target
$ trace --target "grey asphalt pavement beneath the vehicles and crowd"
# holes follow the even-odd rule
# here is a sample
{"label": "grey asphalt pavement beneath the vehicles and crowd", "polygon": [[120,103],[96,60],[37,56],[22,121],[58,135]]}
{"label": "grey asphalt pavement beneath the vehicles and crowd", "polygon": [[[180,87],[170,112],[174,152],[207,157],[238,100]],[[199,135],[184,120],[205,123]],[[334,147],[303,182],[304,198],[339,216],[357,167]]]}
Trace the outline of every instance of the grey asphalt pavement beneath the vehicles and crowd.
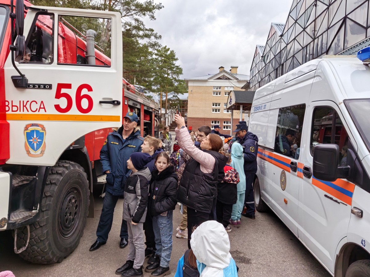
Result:
{"label": "grey asphalt pavement beneath the vehicles and crowd", "polygon": [[[80,244],[64,261],[57,264],[39,265],[23,261],[13,252],[11,232],[0,232],[0,271],[11,270],[16,277],[117,276],[115,270],[125,263],[128,253],[127,248],[119,247],[122,202],[123,199],[120,199],[117,203],[107,244],[89,252],[96,239],[95,231],[102,207],[102,199],[95,196],[95,217],[87,219]],[[187,249],[187,240],[175,236],[180,219],[177,205],[174,211],[174,244],[170,263],[172,274],[169,276],[174,276],[177,262]],[[273,212],[257,212],[255,220],[242,217],[241,227],[232,228],[229,237],[230,253],[239,267],[241,277],[330,276]],[[144,276],[150,276],[150,273]]]}

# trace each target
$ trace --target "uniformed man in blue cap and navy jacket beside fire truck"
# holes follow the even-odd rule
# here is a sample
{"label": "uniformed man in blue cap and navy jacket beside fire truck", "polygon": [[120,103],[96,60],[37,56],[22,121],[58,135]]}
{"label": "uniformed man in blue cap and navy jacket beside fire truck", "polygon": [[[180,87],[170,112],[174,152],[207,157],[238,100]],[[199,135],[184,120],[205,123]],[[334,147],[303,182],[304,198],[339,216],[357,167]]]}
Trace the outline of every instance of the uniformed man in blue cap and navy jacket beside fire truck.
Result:
{"label": "uniformed man in blue cap and navy jacket beside fire truck", "polygon": [[[109,133],[101,148],[100,160],[102,171],[107,174],[107,184],[96,230],[97,240],[91,245],[90,251],[97,250],[107,242],[108,234],[112,228],[115,205],[118,198],[124,195],[124,184],[128,173],[127,160],[132,153],[141,151],[140,146],[144,138],[140,136],[140,131],[134,131],[138,120],[135,113],[128,112],[120,129]],[[125,248],[128,244],[126,220],[122,220],[120,237],[120,247]]]}

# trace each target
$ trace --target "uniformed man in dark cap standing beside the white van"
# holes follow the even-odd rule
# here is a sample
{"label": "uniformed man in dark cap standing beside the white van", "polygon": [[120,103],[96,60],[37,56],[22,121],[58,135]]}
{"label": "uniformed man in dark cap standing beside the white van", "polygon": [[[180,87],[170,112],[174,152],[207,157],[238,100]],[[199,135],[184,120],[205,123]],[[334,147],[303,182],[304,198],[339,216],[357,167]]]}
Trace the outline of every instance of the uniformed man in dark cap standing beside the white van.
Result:
{"label": "uniformed man in dark cap standing beside the white van", "polygon": [[258,153],[258,137],[252,132],[248,132],[248,126],[245,121],[240,121],[236,125],[236,136],[238,137],[238,142],[243,147],[244,156],[244,173],[246,181],[245,189],[245,206],[247,211],[242,213],[251,219],[255,219],[255,205],[253,196],[253,181],[255,174],[257,172],[257,153]]}

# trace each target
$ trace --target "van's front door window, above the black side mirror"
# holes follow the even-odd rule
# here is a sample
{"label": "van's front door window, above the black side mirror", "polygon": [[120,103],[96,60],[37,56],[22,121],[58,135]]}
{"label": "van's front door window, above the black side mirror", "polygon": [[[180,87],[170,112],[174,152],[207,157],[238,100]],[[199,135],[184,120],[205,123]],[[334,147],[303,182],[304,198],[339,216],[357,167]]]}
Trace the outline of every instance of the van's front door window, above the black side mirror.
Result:
{"label": "van's front door window, above the black side mirror", "polygon": [[317,107],[313,112],[311,154],[317,144],[332,143],[339,146],[340,166],[347,165],[348,136],[342,120],[332,107]]}

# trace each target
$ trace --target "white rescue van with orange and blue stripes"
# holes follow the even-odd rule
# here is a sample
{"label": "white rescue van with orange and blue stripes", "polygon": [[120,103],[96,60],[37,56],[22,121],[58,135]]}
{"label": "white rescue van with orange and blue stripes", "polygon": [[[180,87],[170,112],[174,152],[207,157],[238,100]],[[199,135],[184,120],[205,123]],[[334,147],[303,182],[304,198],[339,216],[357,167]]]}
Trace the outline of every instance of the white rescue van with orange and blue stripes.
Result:
{"label": "white rescue van with orange and blue stripes", "polygon": [[257,211],[271,208],[333,276],[370,276],[369,65],[314,59],[275,79],[256,91],[249,131]]}

